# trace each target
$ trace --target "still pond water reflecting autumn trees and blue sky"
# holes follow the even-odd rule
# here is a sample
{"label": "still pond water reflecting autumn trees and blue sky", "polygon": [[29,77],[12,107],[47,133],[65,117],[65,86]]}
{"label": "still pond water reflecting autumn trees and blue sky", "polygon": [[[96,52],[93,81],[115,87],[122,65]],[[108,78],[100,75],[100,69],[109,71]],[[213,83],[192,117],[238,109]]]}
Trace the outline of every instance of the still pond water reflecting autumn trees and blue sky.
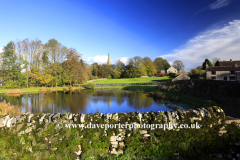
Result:
{"label": "still pond water reflecting autumn trees and blue sky", "polygon": [[181,103],[154,101],[147,94],[112,91],[52,92],[24,94],[20,96],[0,95],[0,101],[21,106],[22,112],[31,113],[114,113],[172,111],[174,108],[189,109]]}

